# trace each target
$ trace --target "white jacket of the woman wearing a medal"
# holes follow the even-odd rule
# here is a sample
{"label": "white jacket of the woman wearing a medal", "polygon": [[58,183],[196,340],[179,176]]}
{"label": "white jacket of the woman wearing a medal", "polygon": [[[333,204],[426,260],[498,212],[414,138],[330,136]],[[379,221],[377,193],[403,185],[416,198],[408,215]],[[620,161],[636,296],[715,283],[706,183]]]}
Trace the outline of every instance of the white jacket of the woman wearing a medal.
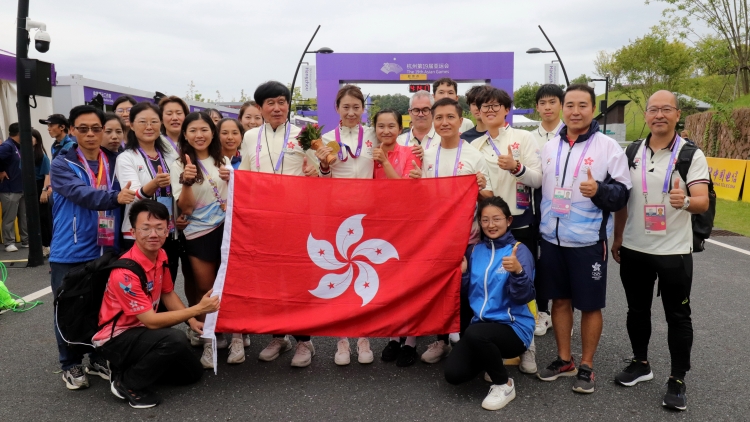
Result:
{"label": "white jacket of the woman wearing a medal", "polygon": [[[336,179],[372,179],[373,160],[372,149],[380,145],[375,136],[375,130],[367,126],[362,127],[362,150],[359,157],[354,157],[359,145],[359,126],[353,128],[339,128],[341,143],[347,147],[342,148],[341,155],[331,164],[329,174],[321,174],[322,177],[333,177]],[[323,143],[336,142],[336,130],[323,134]],[[351,151],[351,154],[350,154]],[[343,160],[341,157],[343,156]]]}

